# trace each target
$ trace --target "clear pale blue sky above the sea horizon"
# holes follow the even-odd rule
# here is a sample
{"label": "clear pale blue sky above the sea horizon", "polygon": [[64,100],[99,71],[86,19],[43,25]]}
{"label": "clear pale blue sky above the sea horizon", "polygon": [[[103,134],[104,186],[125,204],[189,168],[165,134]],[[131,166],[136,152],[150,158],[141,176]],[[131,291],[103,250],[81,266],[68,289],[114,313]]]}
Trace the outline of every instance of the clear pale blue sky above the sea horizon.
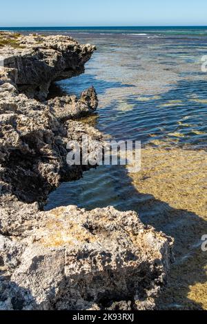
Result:
{"label": "clear pale blue sky above the sea horizon", "polygon": [[207,26],[206,0],[1,1],[0,26]]}

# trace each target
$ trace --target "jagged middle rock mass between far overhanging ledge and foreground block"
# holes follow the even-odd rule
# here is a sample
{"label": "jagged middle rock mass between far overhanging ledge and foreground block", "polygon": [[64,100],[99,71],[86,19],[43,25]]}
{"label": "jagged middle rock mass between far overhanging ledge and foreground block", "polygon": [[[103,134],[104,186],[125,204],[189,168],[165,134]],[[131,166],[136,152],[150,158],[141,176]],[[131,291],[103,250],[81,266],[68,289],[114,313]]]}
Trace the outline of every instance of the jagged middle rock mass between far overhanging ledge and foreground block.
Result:
{"label": "jagged middle rock mass between far overhanging ledge and foreground block", "polygon": [[[18,72],[0,70],[0,176],[21,201],[45,201],[62,181],[79,179],[88,166],[66,162],[68,141],[101,140],[95,128],[74,121],[94,112],[97,94],[89,88],[75,96],[40,103],[17,90]],[[61,102],[64,104],[61,105]],[[52,105],[54,103],[54,105]],[[92,145],[90,145],[92,148]]]}

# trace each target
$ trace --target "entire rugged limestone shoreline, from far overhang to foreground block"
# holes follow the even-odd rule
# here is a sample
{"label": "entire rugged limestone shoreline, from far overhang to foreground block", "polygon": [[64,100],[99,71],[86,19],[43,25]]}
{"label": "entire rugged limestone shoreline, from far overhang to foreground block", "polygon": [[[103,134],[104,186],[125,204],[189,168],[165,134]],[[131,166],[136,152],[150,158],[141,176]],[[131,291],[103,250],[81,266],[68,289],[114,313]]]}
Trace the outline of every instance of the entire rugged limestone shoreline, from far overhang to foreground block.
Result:
{"label": "entire rugged limestone shoreline, from far overhang to foreground block", "polygon": [[52,81],[82,73],[94,50],[0,33],[0,310],[148,310],[165,283],[172,239],[135,212],[42,211],[52,190],[91,167],[66,163],[68,141],[88,134],[90,150],[103,141],[75,120],[97,109],[94,88],[47,100]]}

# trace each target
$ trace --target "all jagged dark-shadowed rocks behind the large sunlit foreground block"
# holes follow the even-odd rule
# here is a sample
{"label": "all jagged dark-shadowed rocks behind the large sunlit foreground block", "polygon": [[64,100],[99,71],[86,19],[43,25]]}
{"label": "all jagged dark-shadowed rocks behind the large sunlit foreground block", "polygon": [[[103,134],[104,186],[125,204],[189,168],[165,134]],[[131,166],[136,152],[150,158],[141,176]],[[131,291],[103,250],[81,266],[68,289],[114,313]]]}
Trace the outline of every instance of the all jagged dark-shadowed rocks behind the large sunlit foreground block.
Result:
{"label": "all jagged dark-shadowed rocks behind the large sunlit foreground block", "polygon": [[[11,187],[12,194],[28,203],[46,201],[49,192],[62,181],[79,179],[87,170],[88,167],[69,167],[66,163],[68,141],[79,141],[85,133],[90,141],[102,137],[94,128],[74,120],[96,110],[94,88],[84,91],[80,99],[31,99],[40,79],[42,86],[42,80],[49,85],[63,74],[71,77],[83,71],[83,63],[95,47],[79,45],[70,37],[40,39],[36,35],[18,36],[18,44],[23,43],[26,48],[0,48],[5,65],[0,70],[0,177]],[[66,67],[71,67],[70,72]],[[28,95],[21,92],[23,83],[28,86]],[[41,87],[37,97],[39,93],[43,97]]]}

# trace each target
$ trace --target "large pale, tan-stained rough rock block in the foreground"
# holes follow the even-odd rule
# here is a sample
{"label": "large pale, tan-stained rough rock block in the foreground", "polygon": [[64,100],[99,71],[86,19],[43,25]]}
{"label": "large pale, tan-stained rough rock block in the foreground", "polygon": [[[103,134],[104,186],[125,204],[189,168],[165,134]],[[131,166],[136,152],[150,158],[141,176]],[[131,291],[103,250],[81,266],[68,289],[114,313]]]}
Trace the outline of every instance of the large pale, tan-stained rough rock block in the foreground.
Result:
{"label": "large pale, tan-stained rough rock block in the foreground", "polygon": [[0,236],[1,308],[154,307],[171,241],[144,226],[135,212],[68,206],[23,218],[7,224],[12,236]]}

